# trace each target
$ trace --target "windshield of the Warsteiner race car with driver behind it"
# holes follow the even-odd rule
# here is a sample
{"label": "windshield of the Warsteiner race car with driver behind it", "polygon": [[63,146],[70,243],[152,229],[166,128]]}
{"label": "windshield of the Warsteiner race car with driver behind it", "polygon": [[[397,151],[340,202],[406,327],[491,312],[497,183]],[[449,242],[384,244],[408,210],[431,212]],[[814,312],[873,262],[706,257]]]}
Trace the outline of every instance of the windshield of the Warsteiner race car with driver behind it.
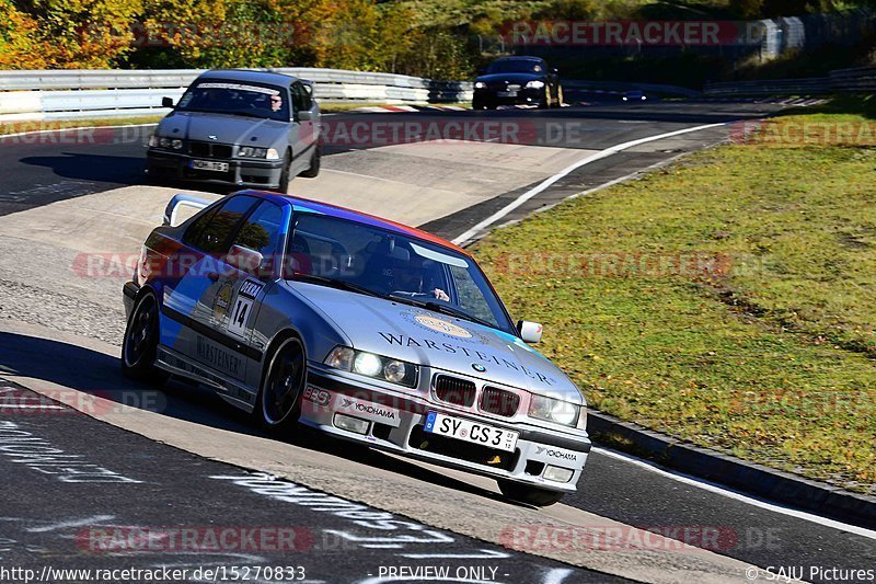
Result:
{"label": "windshield of the Warsteiner race car with driver behind it", "polygon": [[295,219],[293,279],[365,291],[515,334],[477,264],[426,241],[324,215]]}

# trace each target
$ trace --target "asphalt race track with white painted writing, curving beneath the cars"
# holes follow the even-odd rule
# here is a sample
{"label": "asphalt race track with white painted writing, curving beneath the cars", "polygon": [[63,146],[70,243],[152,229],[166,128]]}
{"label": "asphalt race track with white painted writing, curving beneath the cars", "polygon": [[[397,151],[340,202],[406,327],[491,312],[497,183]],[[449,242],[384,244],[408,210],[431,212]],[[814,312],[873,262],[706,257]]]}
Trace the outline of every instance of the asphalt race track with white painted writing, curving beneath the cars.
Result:
{"label": "asphalt race track with white painted writing, curving beneath the cars", "polygon": [[[744,121],[780,108],[662,102],[326,116],[335,130],[366,124],[365,138],[335,139],[321,176],[295,180],[291,192],[456,238],[607,148],[729,124],[583,165],[497,225],[724,141]],[[520,134],[504,142],[376,138],[384,125],[428,131],[451,123]],[[802,569],[802,580],[829,582],[832,568],[876,565],[876,533],[703,489],[598,448],[578,493],[537,511],[504,501],[485,479],[313,436],[268,439],[200,388],[124,380],[125,278],[71,266],[82,254],[136,253],[170,196],[197,191],[146,185],[150,134],[0,137],[0,565],[37,573],[46,565],[300,566],[299,581],[309,582],[545,583],[746,582],[751,566]],[[42,460],[46,454],[56,459]],[[589,545],[544,545],[533,526],[586,533]],[[269,543],[197,545],[217,534]]]}

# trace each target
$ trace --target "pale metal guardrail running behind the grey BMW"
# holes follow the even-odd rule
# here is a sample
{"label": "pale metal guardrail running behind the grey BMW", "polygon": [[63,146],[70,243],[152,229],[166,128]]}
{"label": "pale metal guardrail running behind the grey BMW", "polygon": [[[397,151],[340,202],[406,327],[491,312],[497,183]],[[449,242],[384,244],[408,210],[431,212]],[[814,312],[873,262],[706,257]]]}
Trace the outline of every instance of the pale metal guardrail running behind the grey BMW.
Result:
{"label": "pale metal guardrail running behind the grey BMW", "polygon": [[[314,82],[323,101],[449,103],[470,101],[470,82],[338,69],[257,69]],[[162,98],[178,100],[204,69],[149,71],[0,71],[0,122],[161,115]]]}

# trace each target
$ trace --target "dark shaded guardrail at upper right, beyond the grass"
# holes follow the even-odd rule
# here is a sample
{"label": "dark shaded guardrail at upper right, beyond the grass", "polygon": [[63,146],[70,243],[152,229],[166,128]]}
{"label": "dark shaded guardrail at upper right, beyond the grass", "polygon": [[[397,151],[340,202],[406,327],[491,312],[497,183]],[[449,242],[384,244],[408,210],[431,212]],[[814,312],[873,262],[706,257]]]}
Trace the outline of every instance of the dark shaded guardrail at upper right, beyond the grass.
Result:
{"label": "dark shaded guardrail at upper right, beyond the grass", "polygon": [[706,83],[705,95],[807,95],[876,92],[876,67],[837,69],[828,77]]}

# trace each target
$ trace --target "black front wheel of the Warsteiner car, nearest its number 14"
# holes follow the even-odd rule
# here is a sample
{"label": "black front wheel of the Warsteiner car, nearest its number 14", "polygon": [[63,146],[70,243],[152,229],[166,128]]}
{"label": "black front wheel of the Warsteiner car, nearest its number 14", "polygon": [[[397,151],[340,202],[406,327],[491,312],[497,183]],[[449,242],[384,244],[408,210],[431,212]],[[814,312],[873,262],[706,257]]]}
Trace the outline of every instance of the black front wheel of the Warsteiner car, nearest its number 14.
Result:
{"label": "black front wheel of the Warsteiner car, nearest its number 14", "polygon": [[284,339],[267,360],[253,415],[269,434],[291,437],[301,415],[307,354],[298,336]]}

